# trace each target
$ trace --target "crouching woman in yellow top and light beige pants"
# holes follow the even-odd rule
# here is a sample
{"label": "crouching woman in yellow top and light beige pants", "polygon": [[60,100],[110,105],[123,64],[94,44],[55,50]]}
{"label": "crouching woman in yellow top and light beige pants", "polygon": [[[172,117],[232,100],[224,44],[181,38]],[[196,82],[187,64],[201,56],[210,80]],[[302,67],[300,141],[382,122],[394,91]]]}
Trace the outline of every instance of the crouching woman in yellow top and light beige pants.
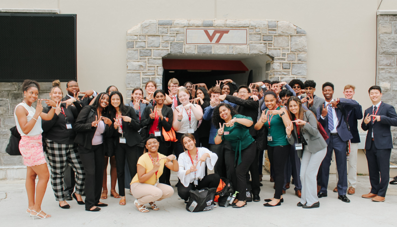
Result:
{"label": "crouching woman in yellow top and light beige pants", "polygon": [[146,213],[145,203],[149,203],[154,211],[159,208],[155,202],[169,198],[174,194],[174,189],[166,184],[158,182],[163,174],[164,165],[174,172],[179,171],[179,164],[174,154],[165,156],[158,153],[159,143],[157,138],[150,134],[146,140],[147,152],[139,157],[136,174],[131,181],[131,194],[136,198],[134,204],[140,212]]}

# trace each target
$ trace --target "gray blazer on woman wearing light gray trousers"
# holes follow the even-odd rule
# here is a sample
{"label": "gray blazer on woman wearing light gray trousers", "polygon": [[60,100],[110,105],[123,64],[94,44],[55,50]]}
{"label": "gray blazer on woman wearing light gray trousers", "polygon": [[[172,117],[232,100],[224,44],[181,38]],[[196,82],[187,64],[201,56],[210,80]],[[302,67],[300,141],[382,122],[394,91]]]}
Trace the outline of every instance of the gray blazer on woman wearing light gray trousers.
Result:
{"label": "gray blazer on woman wearing light gray trousers", "polygon": [[[321,136],[319,130],[317,129],[317,119],[316,116],[311,111],[306,111],[303,114],[303,120],[308,122],[302,128],[303,138],[306,140],[308,149],[311,153],[317,153],[318,151],[323,150],[327,147],[327,143],[324,140],[323,136]],[[294,125],[294,133],[290,138],[287,138],[288,143],[293,145],[295,143],[296,138],[298,138],[296,132],[296,126]],[[298,150],[298,156],[302,157],[302,150]]]}

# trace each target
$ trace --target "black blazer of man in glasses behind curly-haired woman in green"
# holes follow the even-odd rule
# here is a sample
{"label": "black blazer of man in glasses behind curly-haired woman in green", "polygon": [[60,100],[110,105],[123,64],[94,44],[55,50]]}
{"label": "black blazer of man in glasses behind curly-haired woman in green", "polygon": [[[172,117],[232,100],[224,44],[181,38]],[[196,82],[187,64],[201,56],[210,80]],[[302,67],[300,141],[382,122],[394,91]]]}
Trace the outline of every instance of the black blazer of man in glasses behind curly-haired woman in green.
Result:
{"label": "black blazer of man in glasses behind curly-haired woman in green", "polygon": [[244,100],[229,94],[226,95],[226,100],[237,104],[237,106],[234,109],[239,114],[252,118],[254,124],[252,124],[252,126],[250,127],[250,134],[252,137],[256,138],[257,131],[254,129],[254,126],[258,120],[259,101],[254,101],[254,99],[252,98]]}

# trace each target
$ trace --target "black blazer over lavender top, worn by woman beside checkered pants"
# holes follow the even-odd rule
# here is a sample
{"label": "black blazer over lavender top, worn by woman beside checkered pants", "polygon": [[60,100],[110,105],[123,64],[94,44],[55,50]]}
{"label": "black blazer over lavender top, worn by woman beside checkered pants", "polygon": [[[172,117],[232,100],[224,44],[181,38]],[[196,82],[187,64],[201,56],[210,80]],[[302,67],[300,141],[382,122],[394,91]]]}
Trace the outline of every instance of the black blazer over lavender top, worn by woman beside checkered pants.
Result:
{"label": "black blazer over lavender top, worn by woman beside checkered pants", "polygon": [[[90,114],[90,112],[93,112]],[[89,115],[92,115],[88,118]],[[74,143],[83,146],[85,149],[91,150],[92,148],[92,138],[94,138],[94,134],[96,131],[96,127],[92,127],[91,124],[95,121],[95,116],[98,117],[98,112],[92,108],[92,106],[84,106],[83,109],[78,114],[76,122],[74,123],[74,131],[77,132],[76,138],[74,139]],[[106,116],[105,113],[102,113],[102,116]],[[105,132],[104,136],[104,145],[106,144],[106,137],[110,137],[111,134],[110,128],[105,124]],[[104,148],[105,150],[105,148]],[[105,151],[106,152],[106,151]]]}

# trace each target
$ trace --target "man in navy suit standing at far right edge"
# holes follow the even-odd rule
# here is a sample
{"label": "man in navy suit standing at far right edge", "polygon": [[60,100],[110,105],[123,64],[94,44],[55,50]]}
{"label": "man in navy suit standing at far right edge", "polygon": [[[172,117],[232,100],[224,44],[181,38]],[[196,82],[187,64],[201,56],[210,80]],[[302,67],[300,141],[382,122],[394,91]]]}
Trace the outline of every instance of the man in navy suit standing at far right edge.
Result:
{"label": "man in navy suit standing at far right edge", "polygon": [[[375,202],[384,202],[389,182],[390,154],[393,148],[393,138],[390,126],[397,126],[397,114],[392,105],[381,101],[382,89],[372,86],[368,90],[372,106],[365,110],[361,128],[368,130],[365,140],[365,156],[368,162],[371,192],[362,195],[363,198]],[[380,179],[379,179],[380,176]]]}

